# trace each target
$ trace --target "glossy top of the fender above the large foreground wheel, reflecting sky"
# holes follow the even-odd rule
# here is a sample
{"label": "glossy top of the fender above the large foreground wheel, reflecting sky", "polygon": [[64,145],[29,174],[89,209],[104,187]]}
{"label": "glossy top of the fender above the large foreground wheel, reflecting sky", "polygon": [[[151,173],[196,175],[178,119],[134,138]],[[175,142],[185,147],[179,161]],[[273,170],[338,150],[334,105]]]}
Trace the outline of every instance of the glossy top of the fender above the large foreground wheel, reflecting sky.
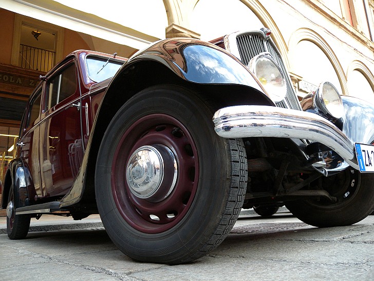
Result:
{"label": "glossy top of the fender above the large foreground wheel, reflecting sky", "polygon": [[140,60],[162,63],[189,82],[247,85],[264,93],[263,87],[244,64],[226,50],[208,42],[189,38],[156,42],[131,57],[113,80]]}

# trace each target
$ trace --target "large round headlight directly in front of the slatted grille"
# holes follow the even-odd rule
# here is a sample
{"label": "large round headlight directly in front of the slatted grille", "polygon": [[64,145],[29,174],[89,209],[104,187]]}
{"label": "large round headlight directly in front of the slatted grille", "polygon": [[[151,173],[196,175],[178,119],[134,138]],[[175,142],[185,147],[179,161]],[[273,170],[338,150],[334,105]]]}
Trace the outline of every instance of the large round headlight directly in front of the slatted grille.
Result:
{"label": "large round headlight directly in front of the slatted grille", "polygon": [[263,84],[273,101],[279,102],[285,98],[287,93],[286,79],[281,68],[270,54],[263,53],[253,57],[248,67]]}

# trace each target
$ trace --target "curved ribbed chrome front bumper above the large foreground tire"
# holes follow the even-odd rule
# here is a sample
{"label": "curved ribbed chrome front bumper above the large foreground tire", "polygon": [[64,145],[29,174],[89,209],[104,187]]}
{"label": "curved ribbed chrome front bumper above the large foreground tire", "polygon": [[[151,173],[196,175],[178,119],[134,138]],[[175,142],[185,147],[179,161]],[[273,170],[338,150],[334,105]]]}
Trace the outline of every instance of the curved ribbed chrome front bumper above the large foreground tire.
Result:
{"label": "curved ribbed chrome front bumper above the large foreground tire", "polygon": [[359,170],[354,143],[319,115],[269,106],[235,106],[218,110],[213,121],[216,133],[225,138],[285,137],[319,142]]}

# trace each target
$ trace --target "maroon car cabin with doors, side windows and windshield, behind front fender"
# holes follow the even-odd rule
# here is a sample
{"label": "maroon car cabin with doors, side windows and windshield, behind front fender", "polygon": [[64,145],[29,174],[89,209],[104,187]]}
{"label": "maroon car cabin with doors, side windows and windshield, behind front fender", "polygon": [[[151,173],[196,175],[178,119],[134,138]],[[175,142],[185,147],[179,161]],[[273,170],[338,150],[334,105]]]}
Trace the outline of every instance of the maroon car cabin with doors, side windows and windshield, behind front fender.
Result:
{"label": "maroon car cabin with doors, side windows and windshield, behind front fender", "polygon": [[[97,64],[95,69],[91,66],[92,72],[109,58],[115,71],[102,77],[88,73],[89,60]],[[126,60],[78,50],[41,77],[42,82],[30,96],[17,144],[16,158],[22,159],[25,174],[29,176],[20,206],[61,199],[70,190],[82,164],[108,78]],[[92,80],[95,78],[104,81]]]}

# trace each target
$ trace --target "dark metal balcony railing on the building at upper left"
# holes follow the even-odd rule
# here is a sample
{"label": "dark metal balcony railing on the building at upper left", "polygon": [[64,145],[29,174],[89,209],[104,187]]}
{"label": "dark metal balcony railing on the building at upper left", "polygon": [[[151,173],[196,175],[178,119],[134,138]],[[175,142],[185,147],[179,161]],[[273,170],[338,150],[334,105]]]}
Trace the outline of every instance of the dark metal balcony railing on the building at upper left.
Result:
{"label": "dark metal balcony railing on the building at upper left", "polygon": [[55,52],[20,44],[20,66],[48,72],[54,65]]}

